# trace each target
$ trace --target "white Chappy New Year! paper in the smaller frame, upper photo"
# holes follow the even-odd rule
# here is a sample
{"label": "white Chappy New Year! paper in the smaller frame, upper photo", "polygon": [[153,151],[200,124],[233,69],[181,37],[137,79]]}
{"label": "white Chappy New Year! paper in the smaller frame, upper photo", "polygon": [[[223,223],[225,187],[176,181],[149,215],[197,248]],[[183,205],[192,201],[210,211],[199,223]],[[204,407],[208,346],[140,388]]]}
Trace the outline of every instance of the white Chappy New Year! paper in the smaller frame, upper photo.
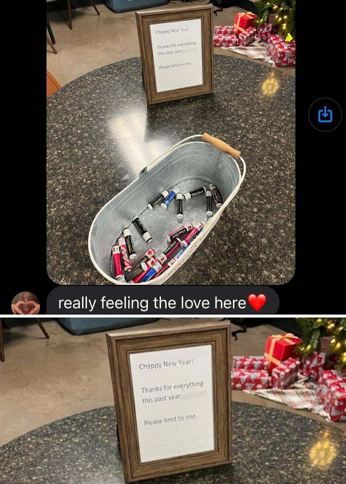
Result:
{"label": "white Chappy New Year! paper in the smaller frame, upper photo", "polygon": [[158,93],[203,84],[202,20],[150,25]]}

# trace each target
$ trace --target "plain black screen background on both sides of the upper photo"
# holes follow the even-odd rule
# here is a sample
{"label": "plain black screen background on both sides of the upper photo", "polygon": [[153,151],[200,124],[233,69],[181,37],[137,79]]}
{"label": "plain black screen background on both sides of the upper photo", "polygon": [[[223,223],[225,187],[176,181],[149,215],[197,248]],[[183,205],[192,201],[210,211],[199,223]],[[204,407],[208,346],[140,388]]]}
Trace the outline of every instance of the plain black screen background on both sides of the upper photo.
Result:
{"label": "plain black screen background on both sides of the upper photo", "polygon": [[[10,314],[12,298],[24,290],[38,296],[44,314],[46,297],[56,287],[45,261],[45,3],[12,13],[16,29],[2,45],[2,104],[8,108],[3,110],[0,314]],[[297,2],[297,256],[293,279],[272,286],[281,314],[345,314],[345,121],[321,133],[307,116],[322,97],[335,99],[344,110],[343,37],[342,19],[324,2]],[[160,294],[160,286],[155,292]]]}

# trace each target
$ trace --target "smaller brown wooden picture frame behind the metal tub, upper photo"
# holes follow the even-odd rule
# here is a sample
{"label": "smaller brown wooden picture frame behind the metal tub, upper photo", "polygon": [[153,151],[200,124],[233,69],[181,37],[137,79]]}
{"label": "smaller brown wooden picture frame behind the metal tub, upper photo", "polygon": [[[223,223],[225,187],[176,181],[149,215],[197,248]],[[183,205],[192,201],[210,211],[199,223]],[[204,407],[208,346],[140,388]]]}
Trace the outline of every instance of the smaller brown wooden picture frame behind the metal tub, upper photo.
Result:
{"label": "smaller brown wooden picture frame behind the metal tub, upper photo", "polygon": [[[158,92],[155,76],[155,60],[153,54],[152,35],[150,26],[169,22],[183,22],[187,20],[201,21],[201,52],[202,78],[198,85],[174,88]],[[140,10],[136,12],[136,22],[140,56],[142,60],[143,81],[147,105],[173,101],[175,99],[201,96],[214,92],[213,72],[213,5],[199,5],[174,9]],[[169,39],[169,37],[167,36]],[[178,44],[175,44],[178,45]],[[186,51],[185,51],[186,52]],[[174,58],[177,56],[175,55]],[[157,60],[158,61],[158,60]],[[195,60],[197,62],[197,60]],[[173,64],[171,64],[173,66]],[[174,64],[176,65],[176,64]],[[171,72],[167,72],[169,79]],[[186,69],[185,69],[186,70]],[[198,68],[199,70],[199,68]],[[166,72],[165,72],[166,74]],[[181,78],[181,76],[180,76]]]}

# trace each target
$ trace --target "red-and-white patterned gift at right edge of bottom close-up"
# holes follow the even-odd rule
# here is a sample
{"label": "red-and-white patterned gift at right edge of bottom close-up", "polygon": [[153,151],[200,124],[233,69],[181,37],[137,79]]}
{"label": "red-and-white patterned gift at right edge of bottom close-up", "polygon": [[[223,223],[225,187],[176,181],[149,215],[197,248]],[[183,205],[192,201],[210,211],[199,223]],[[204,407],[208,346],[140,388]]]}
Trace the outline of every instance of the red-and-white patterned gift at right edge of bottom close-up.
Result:
{"label": "red-and-white patterned gift at right edge of bottom close-up", "polygon": [[323,371],[319,386],[316,390],[317,397],[324,410],[329,414],[332,422],[346,420],[346,374],[338,374],[334,371]]}

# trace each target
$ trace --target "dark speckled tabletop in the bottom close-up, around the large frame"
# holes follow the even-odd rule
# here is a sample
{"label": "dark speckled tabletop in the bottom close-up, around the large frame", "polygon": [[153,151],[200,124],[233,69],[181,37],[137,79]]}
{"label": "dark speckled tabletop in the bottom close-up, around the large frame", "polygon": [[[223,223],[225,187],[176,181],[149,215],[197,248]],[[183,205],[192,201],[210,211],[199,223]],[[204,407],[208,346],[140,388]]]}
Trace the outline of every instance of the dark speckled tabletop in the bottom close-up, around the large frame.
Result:
{"label": "dark speckled tabletop in the bottom close-up, around the large frame", "polygon": [[[233,403],[232,418],[232,466],[145,482],[344,484],[346,435],[342,430],[244,403]],[[311,449],[319,444],[316,465]],[[324,450],[333,458],[321,466]],[[6,484],[124,483],[113,407],[67,417],[12,440],[0,448],[0,469],[0,482]]]}

